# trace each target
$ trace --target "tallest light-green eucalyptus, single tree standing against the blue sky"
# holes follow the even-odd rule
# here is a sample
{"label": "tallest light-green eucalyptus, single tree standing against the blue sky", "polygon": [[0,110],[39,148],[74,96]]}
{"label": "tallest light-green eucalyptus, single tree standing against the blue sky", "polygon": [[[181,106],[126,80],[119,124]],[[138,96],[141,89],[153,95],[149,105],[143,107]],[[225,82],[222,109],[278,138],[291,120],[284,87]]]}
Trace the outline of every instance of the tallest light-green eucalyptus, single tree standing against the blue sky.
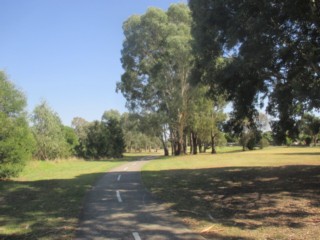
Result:
{"label": "tallest light-green eucalyptus, single tree standing against the blue sky", "polygon": [[125,73],[117,90],[123,93],[130,109],[165,116],[175,154],[183,152],[185,145],[193,61],[191,23],[189,8],[177,4],[166,12],[149,8],[123,25],[121,61]]}

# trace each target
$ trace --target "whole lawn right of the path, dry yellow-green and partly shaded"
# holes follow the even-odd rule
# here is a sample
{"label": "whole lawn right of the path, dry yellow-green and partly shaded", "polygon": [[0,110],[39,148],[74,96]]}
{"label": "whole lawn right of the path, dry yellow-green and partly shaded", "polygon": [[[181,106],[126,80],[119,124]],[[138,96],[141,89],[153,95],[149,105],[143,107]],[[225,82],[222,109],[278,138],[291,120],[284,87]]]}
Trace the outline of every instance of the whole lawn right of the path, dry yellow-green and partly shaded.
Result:
{"label": "whole lawn right of the path, dry yellow-green and partly shaded", "polygon": [[320,148],[164,158],[142,176],[207,239],[319,239]]}

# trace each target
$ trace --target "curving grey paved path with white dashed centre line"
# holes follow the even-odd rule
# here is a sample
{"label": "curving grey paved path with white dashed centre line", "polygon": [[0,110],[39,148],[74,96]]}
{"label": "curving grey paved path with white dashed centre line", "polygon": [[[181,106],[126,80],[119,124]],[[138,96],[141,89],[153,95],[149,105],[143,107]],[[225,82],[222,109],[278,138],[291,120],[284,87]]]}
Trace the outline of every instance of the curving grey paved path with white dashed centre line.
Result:
{"label": "curving grey paved path with white dashed centre line", "polygon": [[114,168],[89,192],[77,240],[204,239],[188,230],[141,183],[141,167],[152,157]]}

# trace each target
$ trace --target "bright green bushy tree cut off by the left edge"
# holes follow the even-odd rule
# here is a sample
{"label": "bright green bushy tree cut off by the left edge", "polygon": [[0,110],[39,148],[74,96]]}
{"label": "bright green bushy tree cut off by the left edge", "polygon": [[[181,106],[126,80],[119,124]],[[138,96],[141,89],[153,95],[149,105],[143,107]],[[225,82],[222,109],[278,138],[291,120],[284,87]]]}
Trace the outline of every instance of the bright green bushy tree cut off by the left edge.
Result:
{"label": "bright green bushy tree cut off by the left edge", "polygon": [[0,71],[0,179],[18,176],[34,149],[25,106],[24,95]]}

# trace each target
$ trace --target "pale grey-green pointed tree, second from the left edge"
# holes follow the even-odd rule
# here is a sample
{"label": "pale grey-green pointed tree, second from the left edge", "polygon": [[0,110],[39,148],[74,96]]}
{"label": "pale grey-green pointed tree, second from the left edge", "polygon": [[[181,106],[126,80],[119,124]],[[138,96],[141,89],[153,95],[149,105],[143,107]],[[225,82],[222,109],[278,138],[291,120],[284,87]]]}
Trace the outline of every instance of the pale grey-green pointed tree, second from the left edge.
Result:
{"label": "pale grey-green pointed tree, second from the left edge", "polygon": [[36,140],[36,158],[53,160],[70,156],[61,120],[46,102],[35,107],[31,120]]}

